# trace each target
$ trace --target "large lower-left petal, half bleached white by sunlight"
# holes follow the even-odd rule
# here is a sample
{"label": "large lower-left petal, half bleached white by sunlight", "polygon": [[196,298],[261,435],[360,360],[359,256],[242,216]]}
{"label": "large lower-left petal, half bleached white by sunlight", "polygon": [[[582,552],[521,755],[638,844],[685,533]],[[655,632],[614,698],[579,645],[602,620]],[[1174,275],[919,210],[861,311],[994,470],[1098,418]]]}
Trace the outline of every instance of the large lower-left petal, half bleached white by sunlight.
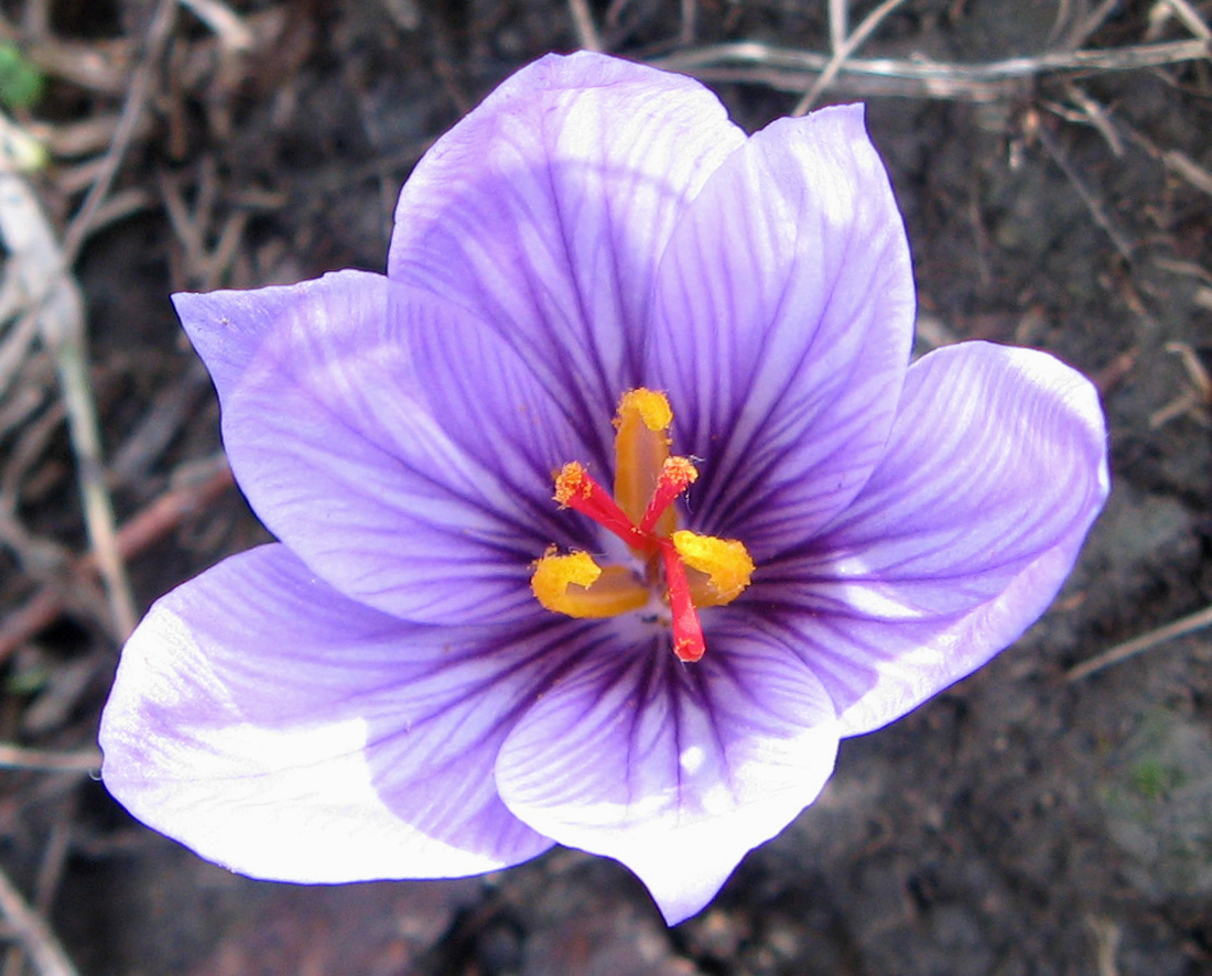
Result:
{"label": "large lower-left petal, half bleached white by sunlight", "polygon": [[457,877],[550,841],[492,766],[548,668],[341,597],[282,546],[162,598],[102,719],[103,780],[139,820],[259,878]]}

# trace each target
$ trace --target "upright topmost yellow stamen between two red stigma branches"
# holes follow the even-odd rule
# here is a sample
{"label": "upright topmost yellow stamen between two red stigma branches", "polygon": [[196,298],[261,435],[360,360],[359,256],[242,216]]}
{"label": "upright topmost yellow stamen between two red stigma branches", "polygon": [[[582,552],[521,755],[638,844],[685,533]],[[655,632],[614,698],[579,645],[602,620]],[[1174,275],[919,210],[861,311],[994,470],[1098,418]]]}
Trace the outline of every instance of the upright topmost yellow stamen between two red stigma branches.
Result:
{"label": "upright topmost yellow stamen between two red stigma branches", "polygon": [[[636,525],[644,518],[657,487],[661,468],[669,457],[669,426],[674,411],[663,393],[631,389],[618,401],[614,417],[614,500]],[[674,513],[657,523],[657,535],[668,536],[675,526]]]}

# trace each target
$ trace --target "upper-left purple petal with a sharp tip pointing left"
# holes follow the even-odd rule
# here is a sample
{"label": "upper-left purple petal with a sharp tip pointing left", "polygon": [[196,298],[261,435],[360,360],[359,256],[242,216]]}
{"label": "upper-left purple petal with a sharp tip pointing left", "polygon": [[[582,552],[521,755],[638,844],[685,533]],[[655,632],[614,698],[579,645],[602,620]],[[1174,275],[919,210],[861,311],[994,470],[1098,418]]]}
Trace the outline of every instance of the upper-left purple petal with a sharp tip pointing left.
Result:
{"label": "upper-left purple petal with a sharp tip pointing left", "polygon": [[501,338],[361,272],[178,306],[240,486],[318,575],[421,622],[533,611],[530,563],[579,541],[550,473],[582,440]]}

